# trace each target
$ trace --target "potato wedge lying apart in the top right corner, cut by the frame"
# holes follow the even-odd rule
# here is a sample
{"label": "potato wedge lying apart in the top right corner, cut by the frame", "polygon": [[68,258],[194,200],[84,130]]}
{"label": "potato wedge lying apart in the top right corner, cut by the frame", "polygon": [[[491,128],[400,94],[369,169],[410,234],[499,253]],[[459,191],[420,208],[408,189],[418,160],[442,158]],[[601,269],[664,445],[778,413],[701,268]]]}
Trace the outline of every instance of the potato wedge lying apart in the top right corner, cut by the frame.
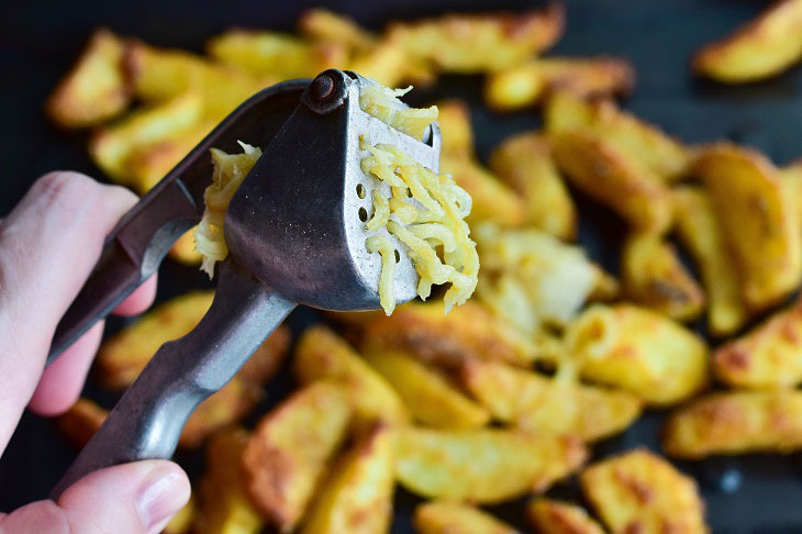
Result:
{"label": "potato wedge lying apart in the top right corner, cut by the frame", "polygon": [[802,57],[802,2],[779,0],[735,33],[705,45],[693,70],[724,84],[775,76]]}

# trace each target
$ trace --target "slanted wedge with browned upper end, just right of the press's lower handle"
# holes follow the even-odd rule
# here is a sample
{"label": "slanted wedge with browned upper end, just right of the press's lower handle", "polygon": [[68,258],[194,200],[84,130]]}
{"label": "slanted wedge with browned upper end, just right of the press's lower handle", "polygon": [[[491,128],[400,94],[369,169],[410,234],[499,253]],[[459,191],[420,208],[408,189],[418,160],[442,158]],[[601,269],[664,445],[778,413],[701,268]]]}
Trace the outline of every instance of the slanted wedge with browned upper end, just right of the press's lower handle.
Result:
{"label": "slanted wedge with browned upper end, just right of the press's lower handle", "polygon": [[410,420],[401,398],[345,340],[323,325],[303,332],[296,347],[296,377],[301,383],[334,380],[348,392],[357,423]]}

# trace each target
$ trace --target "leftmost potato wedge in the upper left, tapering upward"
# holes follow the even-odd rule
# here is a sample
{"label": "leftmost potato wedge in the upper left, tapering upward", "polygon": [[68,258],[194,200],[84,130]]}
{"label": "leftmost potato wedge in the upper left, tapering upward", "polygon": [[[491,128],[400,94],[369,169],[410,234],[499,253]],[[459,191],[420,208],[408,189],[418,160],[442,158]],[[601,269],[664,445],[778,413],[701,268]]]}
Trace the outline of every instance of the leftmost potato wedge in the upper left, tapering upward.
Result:
{"label": "leftmost potato wedge in the upper left, tapering upward", "polygon": [[45,111],[59,126],[86,127],[120,114],[131,102],[123,73],[125,42],[96,30],[73,69],[56,86]]}

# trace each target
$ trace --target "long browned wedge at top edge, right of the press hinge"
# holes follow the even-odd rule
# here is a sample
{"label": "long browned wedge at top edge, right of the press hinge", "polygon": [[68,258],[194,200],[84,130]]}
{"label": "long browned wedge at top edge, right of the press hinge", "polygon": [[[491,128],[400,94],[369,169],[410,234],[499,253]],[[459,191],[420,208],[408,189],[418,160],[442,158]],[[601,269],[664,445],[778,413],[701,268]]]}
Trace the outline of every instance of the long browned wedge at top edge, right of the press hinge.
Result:
{"label": "long browned wedge at top edge, right of the press hinge", "polygon": [[445,73],[493,71],[517,65],[562,34],[565,8],[522,13],[446,14],[391,23],[390,38]]}

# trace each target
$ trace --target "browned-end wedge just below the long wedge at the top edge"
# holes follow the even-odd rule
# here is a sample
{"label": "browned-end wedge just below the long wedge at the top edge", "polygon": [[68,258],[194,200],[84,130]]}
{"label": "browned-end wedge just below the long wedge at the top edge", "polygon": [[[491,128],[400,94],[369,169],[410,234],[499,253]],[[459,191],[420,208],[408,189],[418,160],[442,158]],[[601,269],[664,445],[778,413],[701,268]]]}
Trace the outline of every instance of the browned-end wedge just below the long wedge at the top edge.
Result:
{"label": "browned-end wedge just below the long wedge at the top edge", "polygon": [[634,86],[635,69],[620,57],[538,57],[492,73],[484,86],[484,102],[497,111],[513,111],[537,103],[554,90],[578,97],[625,97]]}

